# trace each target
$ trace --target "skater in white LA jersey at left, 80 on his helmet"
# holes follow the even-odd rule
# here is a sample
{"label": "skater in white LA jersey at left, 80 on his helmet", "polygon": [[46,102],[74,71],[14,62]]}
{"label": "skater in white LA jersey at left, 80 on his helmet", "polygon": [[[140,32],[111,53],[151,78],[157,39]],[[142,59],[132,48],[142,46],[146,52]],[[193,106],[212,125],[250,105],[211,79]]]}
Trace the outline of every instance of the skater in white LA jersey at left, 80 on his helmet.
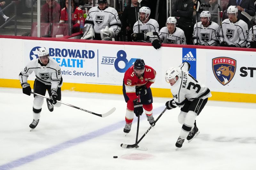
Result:
{"label": "skater in white LA jersey at left, 80 on his helmet", "polygon": [[[19,79],[24,94],[30,96],[31,87],[28,84],[28,76],[33,73],[36,74],[34,81],[34,92],[45,95],[46,90],[48,91],[51,99],[46,99],[47,107],[50,112],[53,111],[53,106],[60,107],[60,103],[56,100],[61,100],[61,86],[62,77],[60,72],[59,64],[49,58],[49,52],[46,48],[38,48],[37,51],[38,59],[34,59],[28,63],[25,69],[21,70]],[[31,129],[35,129],[40,118],[42,105],[44,98],[40,96],[34,96],[33,102],[33,122],[29,125]]]}

